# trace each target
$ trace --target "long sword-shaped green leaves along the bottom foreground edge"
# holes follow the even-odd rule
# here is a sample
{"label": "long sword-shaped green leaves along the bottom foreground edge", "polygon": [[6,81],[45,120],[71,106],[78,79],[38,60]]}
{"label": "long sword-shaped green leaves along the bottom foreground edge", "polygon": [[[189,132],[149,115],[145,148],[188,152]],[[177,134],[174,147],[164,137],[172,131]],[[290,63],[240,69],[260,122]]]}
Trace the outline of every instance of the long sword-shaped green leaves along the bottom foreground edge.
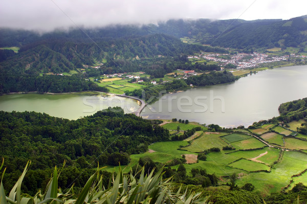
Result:
{"label": "long sword-shaped green leaves along the bottom foreground edge", "polygon": [[[153,175],[152,170],[148,175],[145,174],[144,168],[141,173],[130,172],[130,175],[124,175],[119,170],[116,177],[113,176],[112,184],[108,188],[102,185],[102,175],[100,170],[91,175],[87,180],[80,194],[76,195],[70,192],[72,188],[63,193],[58,187],[58,175],[55,167],[53,176],[46,188],[45,193],[38,191],[33,197],[21,196],[21,183],[29,168],[30,162],[27,163],[23,173],[20,175],[18,181],[9,193],[5,195],[4,187],[1,181],[0,185],[0,202],[4,203],[212,203],[208,201],[209,197],[201,197],[199,193],[180,193],[181,187],[177,192],[174,192],[174,185],[170,182],[171,178],[163,180],[162,169]],[[3,167],[3,163],[0,170]],[[4,176],[5,170],[3,172]],[[140,174],[139,174],[140,173]],[[2,176],[2,179],[3,179]],[[137,176],[139,179],[137,179]]]}

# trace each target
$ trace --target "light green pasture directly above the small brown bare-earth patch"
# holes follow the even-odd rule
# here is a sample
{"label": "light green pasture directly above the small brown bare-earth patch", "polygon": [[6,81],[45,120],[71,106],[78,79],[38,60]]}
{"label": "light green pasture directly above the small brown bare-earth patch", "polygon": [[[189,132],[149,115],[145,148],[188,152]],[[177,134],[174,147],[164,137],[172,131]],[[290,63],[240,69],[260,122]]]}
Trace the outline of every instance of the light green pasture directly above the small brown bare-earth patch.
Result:
{"label": "light green pasture directly above the small brown bare-earth patch", "polygon": [[224,135],[226,135],[226,133],[205,133],[198,139],[193,140],[189,146],[182,147],[181,149],[190,152],[201,152],[212,147],[218,147],[222,149],[224,146],[228,146],[228,144],[220,138],[220,136]]}

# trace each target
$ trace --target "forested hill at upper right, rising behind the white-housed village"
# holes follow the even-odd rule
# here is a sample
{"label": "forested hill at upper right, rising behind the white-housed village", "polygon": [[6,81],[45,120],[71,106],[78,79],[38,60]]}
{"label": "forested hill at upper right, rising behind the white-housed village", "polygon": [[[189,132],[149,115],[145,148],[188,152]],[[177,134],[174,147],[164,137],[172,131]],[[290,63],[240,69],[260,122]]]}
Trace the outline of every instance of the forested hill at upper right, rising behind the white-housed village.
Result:
{"label": "forested hill at upper right, rising behind the white-housed village", "polygon": [[243,23],[207,43],[223,47],[245,49],[272,47],[299,47],[305,49],[307,41],[307,18],[297,17],[282,21],[252,21]]}

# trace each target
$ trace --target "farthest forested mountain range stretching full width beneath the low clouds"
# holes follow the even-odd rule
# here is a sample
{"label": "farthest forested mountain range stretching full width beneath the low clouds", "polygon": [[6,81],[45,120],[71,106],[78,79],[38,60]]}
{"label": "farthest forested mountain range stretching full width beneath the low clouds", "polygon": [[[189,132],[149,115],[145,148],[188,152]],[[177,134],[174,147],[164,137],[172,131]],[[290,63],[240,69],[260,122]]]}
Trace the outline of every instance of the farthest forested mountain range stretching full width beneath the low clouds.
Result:
{"label": "farthest forested mountain range stretching full width beneath the low clouds", "polygon": [[303,47],[305,48],[307,17],[289,20],[168,20],[156,24],[112,25],[99,29],[70,29],[39,35],[24,30],[0,29],[0,47],[23,46],[36,41],[61,39],[73,42],[99,42],[105,39],[166,34],[177,38],[188,37],[194,42],[213,46],[245,49],[247,47]]}

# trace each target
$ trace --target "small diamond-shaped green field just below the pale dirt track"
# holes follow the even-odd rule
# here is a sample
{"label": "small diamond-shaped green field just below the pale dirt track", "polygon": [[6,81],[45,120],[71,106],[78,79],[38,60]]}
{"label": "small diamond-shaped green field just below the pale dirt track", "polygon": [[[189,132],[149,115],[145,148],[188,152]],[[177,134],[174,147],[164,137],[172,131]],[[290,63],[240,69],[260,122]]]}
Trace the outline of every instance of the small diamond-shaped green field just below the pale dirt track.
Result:
{"label": "small diamond-shaped green field just below the pale dirt track", "polygon": [[237,168],[237,169],[242,169],[242,170],[246,170],[246,171],[260,171],[260,170],[270,170],[270,167],[262,164],[262,163],[258,163],[258,162],[253,162],[250,160],[246,160],[246,159],[240,159],[234,163],[229,164],[229,166],[233,167],[233,168]]}

